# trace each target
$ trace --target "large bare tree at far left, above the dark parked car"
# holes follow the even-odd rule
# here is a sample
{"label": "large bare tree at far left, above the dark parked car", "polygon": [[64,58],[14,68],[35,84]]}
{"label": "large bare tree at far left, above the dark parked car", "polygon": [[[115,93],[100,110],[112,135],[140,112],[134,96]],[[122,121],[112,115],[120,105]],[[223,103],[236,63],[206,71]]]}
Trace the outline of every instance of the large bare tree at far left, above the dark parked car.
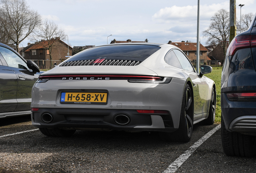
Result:
{"label": "large bare tree at far left, above the dark parked car", "polygon": [[33,32],[40,24],[41,16],[29,9],[25,0],[1,0],[0,23],[4,28],[4,34],[16,44],[19,44]]}

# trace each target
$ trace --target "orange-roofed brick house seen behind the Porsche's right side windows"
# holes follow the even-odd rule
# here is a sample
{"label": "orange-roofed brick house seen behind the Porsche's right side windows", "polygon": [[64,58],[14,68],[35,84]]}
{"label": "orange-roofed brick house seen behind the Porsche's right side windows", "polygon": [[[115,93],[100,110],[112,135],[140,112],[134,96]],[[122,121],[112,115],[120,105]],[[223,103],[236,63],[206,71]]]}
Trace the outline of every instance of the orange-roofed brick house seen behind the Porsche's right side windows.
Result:
{"label": "orange-roofed brick house seen behind the Porsche's right side windows", "polygon": [[[174,46],[177,46],[178,48],[180,48],[188,57],[188,59],[192,62],[196,61],[196,49],[197,49],[197,43],[192,43],[192,42],[171,42],[169,41],[168,44],[172,44]],[[202,44],[200,44],[200,65],[204,64],[204,62],[207,62],[206,60],[211,60],[208,56],[207,56],[207,51],[208,49],[206,49]]]}

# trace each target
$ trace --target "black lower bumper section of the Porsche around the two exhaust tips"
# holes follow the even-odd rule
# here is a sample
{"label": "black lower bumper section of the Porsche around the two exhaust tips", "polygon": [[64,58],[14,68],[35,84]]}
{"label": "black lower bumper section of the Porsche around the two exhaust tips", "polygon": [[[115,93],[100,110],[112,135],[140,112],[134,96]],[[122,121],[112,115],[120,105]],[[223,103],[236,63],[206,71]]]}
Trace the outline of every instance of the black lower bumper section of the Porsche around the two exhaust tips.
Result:
{"label": "black lower bumper section of the Porsche around the two exhaust tips", "polygon": [[[50,123],[42,120],[42,115],[49,113],[53,119]],[[130,122],[119,125],[115,121],[117,115],[126,115]],[[63,109],[39,108],[31,113],[32,125],[42,128],[114,129],[125,131],[163,131],[173,132],[170,114],[144,114],[127,109]]]}

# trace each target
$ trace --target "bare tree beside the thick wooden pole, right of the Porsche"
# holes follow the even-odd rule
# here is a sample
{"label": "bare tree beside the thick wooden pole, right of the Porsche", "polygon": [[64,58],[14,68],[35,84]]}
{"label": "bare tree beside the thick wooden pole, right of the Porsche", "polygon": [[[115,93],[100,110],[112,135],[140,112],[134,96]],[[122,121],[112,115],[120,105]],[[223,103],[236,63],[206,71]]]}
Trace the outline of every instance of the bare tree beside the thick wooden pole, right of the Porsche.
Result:
{"label": "bare tree beside the thick wooden pole, right of the Porsche", "polygon": [[211,18],[209,28],[203,31],[203,35],[208,37],[206,44],[217,45],[221,43],[225,56],[227,41],[229,40],[229,12],[221,9],[215,13]]}

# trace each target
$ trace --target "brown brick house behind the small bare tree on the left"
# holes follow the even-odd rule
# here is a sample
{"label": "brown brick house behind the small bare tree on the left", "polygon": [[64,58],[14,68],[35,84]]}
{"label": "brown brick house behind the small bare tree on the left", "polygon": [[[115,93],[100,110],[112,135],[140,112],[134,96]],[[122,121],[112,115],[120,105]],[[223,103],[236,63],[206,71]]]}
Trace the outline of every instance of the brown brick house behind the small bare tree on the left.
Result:
{"label": "brown brick house behind the small bare tree on the left", "polygon": [[[54,42],[52,45],[52,64],[54,62],[60,64],[60,62],[66,60],[68,57],[68,48],[69,52],[71,54],[72,47],[68,46],[65,42],[60,40],[59,38],[56,38],[57,41]],[[29,48],[25,48],[25,51],[23,49],[23,52],[25,52],[24,58],[26,60],[33,60],[39,68],[50,68],[50,53],[49,50],[47,50],[47,41],[41,40],[41,42],[36,42],[33,46],[30,46]],[[22,54],[22,52],[21,52]]]}

